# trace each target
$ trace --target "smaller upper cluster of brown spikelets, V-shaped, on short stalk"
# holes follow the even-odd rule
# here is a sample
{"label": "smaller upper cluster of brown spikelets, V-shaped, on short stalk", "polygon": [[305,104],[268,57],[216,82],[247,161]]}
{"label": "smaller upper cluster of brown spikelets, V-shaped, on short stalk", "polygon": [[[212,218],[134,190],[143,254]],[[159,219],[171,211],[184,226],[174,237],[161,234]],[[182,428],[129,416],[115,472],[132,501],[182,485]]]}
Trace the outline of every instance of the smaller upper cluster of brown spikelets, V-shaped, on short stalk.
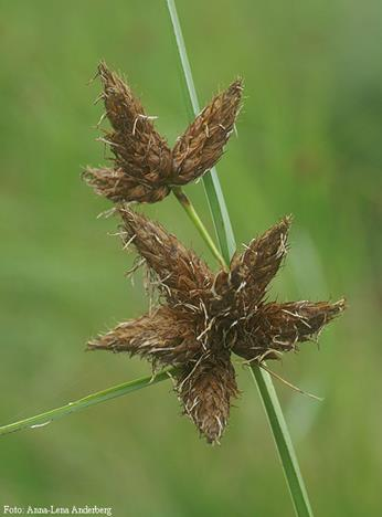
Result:
{"label": "smaller upper cluster of brown spikelets, V-shaped, on short stalk", "polygon": [[113,128],[102,140],[110,146],[114,167],[85,169],[83,177],[97,194],[114,202],[153,203],[166,198],[172,186],[198,179],[219,160],[238,113],[240,80],[211,101],[171,151],[129,86],[105,63],[99,64],[98,75]]}

